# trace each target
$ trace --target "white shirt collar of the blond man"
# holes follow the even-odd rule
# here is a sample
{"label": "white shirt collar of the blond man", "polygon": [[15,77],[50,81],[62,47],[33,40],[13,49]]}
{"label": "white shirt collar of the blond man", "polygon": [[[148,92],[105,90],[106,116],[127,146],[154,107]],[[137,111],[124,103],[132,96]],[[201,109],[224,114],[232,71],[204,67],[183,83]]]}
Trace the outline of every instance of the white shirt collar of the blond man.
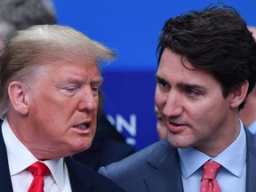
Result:
{"label": "white shirt collar of the blond man", "polygon": [[[34,164],[38,161],[12,132],[6,118],[2,125],[2,132],[11,176],[24,171],[30,164]],[[63,158],[45,160],[44,164],[46,164],[52,172],[52,177],[59,188],[64,186],[64,171],[66,165],[64,164]]]}

